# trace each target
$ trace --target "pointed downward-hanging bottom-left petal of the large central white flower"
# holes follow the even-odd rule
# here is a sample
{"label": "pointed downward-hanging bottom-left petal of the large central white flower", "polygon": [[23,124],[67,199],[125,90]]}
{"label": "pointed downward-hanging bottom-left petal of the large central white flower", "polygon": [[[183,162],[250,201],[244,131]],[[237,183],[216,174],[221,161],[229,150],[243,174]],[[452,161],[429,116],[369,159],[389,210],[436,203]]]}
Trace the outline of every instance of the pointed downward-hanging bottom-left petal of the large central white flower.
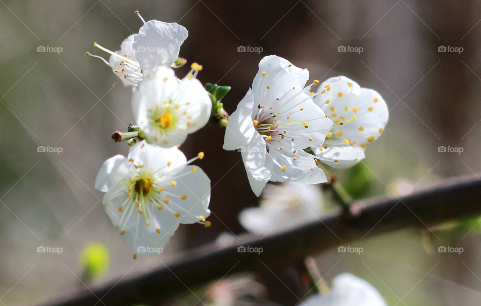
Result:
{"label": "pointed downward-hanging bottom-left petal of the large central white flower", "polygon": [[259,196],[271,178],[271,171],[265,166],[266,143],[259,133],[254,135],[241,154],[252,191]]}

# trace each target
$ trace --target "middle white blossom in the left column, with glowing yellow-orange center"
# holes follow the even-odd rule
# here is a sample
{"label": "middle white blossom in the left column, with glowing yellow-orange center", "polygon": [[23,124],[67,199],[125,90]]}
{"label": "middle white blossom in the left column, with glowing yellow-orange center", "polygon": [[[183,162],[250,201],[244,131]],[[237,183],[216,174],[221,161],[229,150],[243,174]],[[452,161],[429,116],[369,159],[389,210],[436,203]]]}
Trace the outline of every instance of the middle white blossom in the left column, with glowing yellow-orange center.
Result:
{"label": "middle white blossom in the left column, with glowing yellow-orange center", "polygon": [[132,96],[142,137],[162,147],[176,146],[184,142],[187,134],[207,123],[212,102],[195,78],[201,69],[193,63],[192,70],[180,82],[172,69],[162,66],[146,74]]}

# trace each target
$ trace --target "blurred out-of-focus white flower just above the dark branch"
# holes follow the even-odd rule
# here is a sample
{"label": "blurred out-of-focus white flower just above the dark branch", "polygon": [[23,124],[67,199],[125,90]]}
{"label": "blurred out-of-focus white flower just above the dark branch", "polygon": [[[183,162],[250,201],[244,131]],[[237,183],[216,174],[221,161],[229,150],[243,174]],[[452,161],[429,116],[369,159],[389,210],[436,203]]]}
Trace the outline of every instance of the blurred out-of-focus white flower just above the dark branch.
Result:
{"label": "blurred out-of-focus white flower just above the dark branch", "polygon": [[267,184],[260,207],[249,207],[238,218],[245,229],[259,235],[297,227],[318,220],[323,213],[322,192],[316,185],[297,181]]}

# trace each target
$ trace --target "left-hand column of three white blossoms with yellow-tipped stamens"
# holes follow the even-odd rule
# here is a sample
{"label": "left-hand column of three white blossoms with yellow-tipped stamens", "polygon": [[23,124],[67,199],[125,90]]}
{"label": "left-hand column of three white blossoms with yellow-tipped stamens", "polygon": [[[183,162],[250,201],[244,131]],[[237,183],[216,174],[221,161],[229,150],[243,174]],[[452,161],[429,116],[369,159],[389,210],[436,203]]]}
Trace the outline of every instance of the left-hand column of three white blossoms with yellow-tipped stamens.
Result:
{"label": "left-hand column of three white blossoms with yellow-tipped stamens", "polygon": [[[138,14],[138,12],[136,12]],[[139,15],[140,17],[140,15]],[[187,30],[176,23],[145,22],[129,36],[121,50],[112,52],[109,65],[126,86],[133,87],[132,109],[138,137],[127,157],[116,155],[102,165],[95,188],[105,192],[103,204],[124,241],[137,253],[157,255],[179,224],[210,222],[210,180],[197,166],[204,153],[187,160],[177,148],[187,135],[202,128],[212,102],[196,76],[202,66],[193,63],[183,78],[173,67]]]}

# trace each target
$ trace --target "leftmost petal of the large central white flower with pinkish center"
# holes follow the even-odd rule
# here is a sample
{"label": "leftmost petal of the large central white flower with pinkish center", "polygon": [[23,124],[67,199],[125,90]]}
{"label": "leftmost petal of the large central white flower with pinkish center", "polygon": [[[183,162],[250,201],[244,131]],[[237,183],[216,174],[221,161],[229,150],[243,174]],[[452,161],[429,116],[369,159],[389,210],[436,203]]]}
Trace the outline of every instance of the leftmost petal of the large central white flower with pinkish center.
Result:
{"label": "leftmost petal of the large central white flower with pinkish center", "polygon": [[237,105],[237,109],[229,116],[227,127],[225,128],[224,150],[235,150],[245,147],[250,143],[255,134],[259,134],[254,128],[252,112],[254,109],[254,99],[249,90]]}

